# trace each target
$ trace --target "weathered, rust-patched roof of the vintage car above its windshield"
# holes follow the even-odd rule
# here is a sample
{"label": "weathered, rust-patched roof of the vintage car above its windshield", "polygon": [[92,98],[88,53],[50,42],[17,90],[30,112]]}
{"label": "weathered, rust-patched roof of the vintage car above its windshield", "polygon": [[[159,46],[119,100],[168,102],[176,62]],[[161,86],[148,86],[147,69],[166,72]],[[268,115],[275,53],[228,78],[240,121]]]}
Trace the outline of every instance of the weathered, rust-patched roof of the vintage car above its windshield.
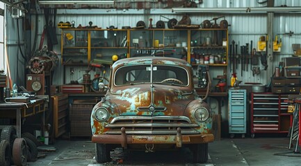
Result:
{"label": "weathered, rust-patched roof of the vintage car above its windshield", "polygon": [[112,67],[118,68],[120,66],[132,66],[137,64],[168,64],[186,67],[191,66],[188,62],[186,62],[186,60],[174,57],[130,57],[117,60]]}

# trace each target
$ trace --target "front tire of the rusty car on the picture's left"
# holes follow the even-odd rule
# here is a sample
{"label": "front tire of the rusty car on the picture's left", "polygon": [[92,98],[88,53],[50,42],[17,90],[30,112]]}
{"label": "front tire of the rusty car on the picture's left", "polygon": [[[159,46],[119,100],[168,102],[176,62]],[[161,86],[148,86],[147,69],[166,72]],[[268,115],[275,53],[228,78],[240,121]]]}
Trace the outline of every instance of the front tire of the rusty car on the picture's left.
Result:
{"label": "front tire of the rusty car on the picture's left", "polygon": [[105,163],[111,160],[108,145],[95,143],[95,160],[97,163]]}

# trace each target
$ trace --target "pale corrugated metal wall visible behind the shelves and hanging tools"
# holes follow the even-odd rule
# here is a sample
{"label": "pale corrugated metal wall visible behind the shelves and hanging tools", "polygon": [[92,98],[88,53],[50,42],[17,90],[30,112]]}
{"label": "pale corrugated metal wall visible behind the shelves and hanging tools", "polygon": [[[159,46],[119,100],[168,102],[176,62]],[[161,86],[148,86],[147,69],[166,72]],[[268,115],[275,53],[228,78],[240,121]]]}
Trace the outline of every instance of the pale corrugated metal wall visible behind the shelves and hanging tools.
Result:
{"label": "pale corrugated metal wall visible behind the shelves and hanging tools", "polygon": [[[152,3],[154,4],[154,3]],[[301,2],[296,0],[291,1],[275,1],[275,6],[300,6]],[[129,3],[124,3],[124,6],[129,8]],[[133,5],[134,6],[134,5]],[[257,1],[241,1],[241,0],[213,0],[213,1],[204,1],[202,4],[198,4],[200,8],[238,8],[238,7],[261,7],[266,6],[266,4],[259,4]],[[131,6],[130,6],[131,7]],[[157,8],[160,6],[156,6]],[[122,8],[122,7],[120,7]],[[71,11],[71,12],[70,12]],[[59,21],[75,21],[76,26],[81,24],[82,26],[87,26],[89,21],[93,22],[93,25],[100,26],[101,28],[106,28],[108,26],[115,26],[117,28],[122,28],[122,26],[136,26],[136,23],[140,20],[146,22],[147,26],[149,25],[149,18],[153,19],[153,24],[158,20],[168,21],[164,17],[170,19],[175,18],[180,20],[182,15],[177,13],[172,13],[171,9],[152,9],[152,10],[100,10],[100,9],[85,9],[85,10],[67,10],[60,9],[58,10],[58,15],[56,17],[56,23]],[[11,19],[10,13],[8,12],[7,19]],[[189,15],[192,21],[192,24],[201,24],[205,19],[212,19],[213,17],[220,17],[221,14],[191,14]],[[225,18],[231,24],[229,27],[229,42],[235,41],[236,44],[244,45],[253,41],[253,46],[257,46],[259,37],[267,34],[267,15],[257,14],[257,15],[225,15]],[[298,24],[300,22],[300,14],[275,14],[273,31],[274,35],[279,35],[282,38],[282,51],[281,53],[275,53],[274,58],[272,59],[272,66],[269,68],[274,68],[277,66],[279,61],[282,61],[284,57],[291,56],[293,50],[291,44],[301,43],[300,42],[300,28]],[[31,26],[34,27],[35,21],[31,19]],[[8,21],[8,41],[15,41],[17,39],[16,26],[13,24],[15,21]],[[38,16],[38,42],[40,43],[40,37],[42,34],[42,29],[44,28],[45,21],[44,15],[40,14]],[[33,29],[33,28],[32,28]],[[288,35],[286,33],[293,32],[293,35]],[[34,32],[32,32],[33,36]],[[56,36],[60,40],[60,29],[56,29]],[[275,36],[274,36],[275,37]],[[32,37],[33,39],[33,37]],[[45,40],[46,41],[46,40]],[[46,42],[45,42],[46,43]],[[10,46],[8,52],[10,54],[11,63],[15,63],[13,60],[16,57],[17,48],[15,46]],[[60,44],[54,46],[54,50],[60,56]],[[259,62],[260,63],[260,62]],[[260,66],[261,70],[263,66]],[[82,68],[84,69],[84,68]],[[54,75],[54,84],[63,84],[63,78],[61,72],[63,71],[62,66],[58,66]],[[69,70],[66,70],[69,71]],[[238,79],[241,78],[241,68],[238,66]],[[12,73],[16,73],[15,68],[12,68]],[[82,75],[83,71],[79,72],[79,75]],[[68,75],[68,73],[67,73]],[[218,68],[215,71],[215,68],[211,68],[211,75],[221,75],[220,69]],[[228,71],[228,77],[231,76],[231,71]],[[73,75],[71,77],[76,77]],[[270,82],[270,73],[266,71],[261,71],[260,75],[252,75],[250,70],[243,72],[243,82],[261,82],[262,84],[268,84]]]}

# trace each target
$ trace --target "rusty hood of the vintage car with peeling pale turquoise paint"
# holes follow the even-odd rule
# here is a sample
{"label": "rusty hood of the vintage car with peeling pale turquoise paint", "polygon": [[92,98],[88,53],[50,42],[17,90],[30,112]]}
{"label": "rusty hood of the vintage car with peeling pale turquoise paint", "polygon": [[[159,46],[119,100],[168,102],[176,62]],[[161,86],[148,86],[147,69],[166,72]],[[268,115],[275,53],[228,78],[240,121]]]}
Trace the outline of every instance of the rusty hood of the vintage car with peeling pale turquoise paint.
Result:
{"label": "rusty hood of the vintage car with peeling pale turquoise paint", "polygon": [[150,84],[111,89],[106,100],[114,102],[120,116],[183,116],[189,102],[196,99],[194,91],[184,86]]}

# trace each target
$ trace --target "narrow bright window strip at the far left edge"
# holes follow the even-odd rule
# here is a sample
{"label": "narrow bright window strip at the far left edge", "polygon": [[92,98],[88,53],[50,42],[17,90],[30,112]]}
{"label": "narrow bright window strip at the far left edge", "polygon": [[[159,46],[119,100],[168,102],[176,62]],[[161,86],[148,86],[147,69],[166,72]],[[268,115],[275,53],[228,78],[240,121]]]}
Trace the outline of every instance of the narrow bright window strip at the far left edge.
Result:
{"label": "narrow bright window strip at the far left edge", "polygon": [[0,71],[4,70],[4,3],[0,2]]}

